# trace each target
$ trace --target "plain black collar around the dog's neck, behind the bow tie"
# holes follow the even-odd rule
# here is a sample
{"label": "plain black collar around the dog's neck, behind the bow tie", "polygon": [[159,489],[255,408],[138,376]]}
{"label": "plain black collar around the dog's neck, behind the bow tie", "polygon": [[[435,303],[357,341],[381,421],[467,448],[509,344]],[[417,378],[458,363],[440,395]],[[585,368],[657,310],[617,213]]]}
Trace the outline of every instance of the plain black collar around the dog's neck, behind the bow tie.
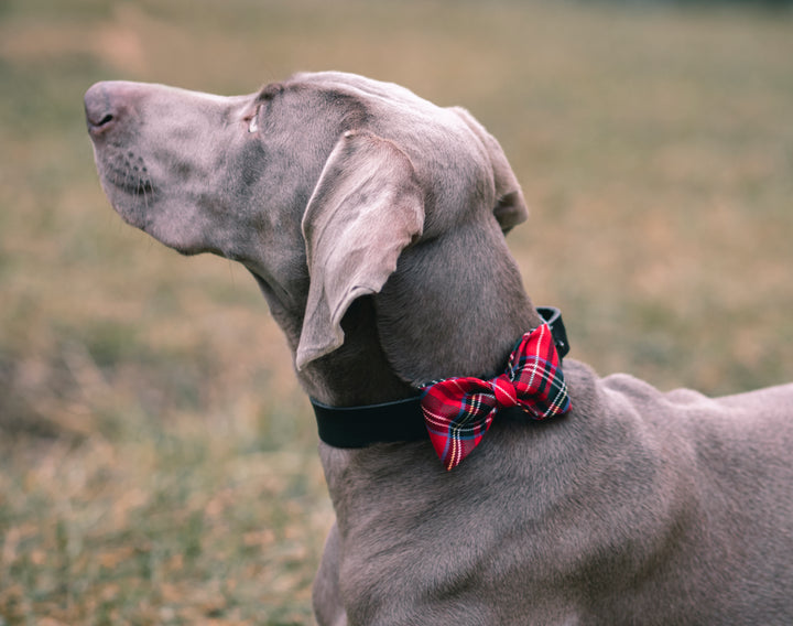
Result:
{"label": "plain black collar around the dog's neck, behind the bow tie", "polygon": [[[562,312],[539,306],[537,312],[551,327],[560,360],[569,352]],[[395,402],[365,407],[328,407],[311,399],[319,439],[334,447],[366,447],[373,443],[395,443],[428,439],[421,396]]]}

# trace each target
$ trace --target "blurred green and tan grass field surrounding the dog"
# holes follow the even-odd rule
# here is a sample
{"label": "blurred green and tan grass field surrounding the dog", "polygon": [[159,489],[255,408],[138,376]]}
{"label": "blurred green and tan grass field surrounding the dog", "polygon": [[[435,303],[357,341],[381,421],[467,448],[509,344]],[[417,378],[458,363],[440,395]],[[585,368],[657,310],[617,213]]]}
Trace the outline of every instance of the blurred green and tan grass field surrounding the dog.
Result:
{"label": "blurred green and tan grass field surrounding the dog", "polygon": [[792,58],[754,4],[1,1],[0,625],[307,624],[333,518],[253,281],[122,225],[91,83],[337,68],[463,105],[572,356],[727,393],[793,379]]}

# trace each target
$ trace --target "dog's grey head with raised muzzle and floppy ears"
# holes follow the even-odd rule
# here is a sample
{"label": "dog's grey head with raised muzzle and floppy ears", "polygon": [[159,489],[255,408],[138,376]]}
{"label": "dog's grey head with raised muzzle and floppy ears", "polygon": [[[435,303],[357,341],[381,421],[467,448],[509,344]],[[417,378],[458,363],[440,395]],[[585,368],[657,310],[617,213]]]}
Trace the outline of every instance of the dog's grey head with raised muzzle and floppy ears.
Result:
{"label": "dog's grey head with raised muzzle and floppy ears", "polygon": [[111,82],[85,104],[118,213],[183,253],[245,263],[289,312],[282,325],[300,325],[286,328],[298,368],[343,344],[350,303],[381,292],[398,265],[394,305],[431,300],[421,290],[475,278],[479,244],[499,247],[526,216],[496,140],[465,110],[397,85],[298,74],[227,98]]}

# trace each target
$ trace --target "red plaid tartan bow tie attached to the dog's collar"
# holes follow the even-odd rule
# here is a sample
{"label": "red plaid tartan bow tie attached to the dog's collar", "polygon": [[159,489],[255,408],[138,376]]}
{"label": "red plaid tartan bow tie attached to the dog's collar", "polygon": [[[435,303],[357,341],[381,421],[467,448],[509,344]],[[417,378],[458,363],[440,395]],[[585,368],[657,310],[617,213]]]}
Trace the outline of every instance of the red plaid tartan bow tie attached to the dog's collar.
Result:
{"label": "red plaid tartan bow tie attached to the dog's collar", "polygon": [[534,420],[569,410],[569,397],[547,324],[521,337],[504,374],[490,380],[447,378],[424,388],[422,411],[435,452],[446,470],[485,436],[501,409],[520,407]]}

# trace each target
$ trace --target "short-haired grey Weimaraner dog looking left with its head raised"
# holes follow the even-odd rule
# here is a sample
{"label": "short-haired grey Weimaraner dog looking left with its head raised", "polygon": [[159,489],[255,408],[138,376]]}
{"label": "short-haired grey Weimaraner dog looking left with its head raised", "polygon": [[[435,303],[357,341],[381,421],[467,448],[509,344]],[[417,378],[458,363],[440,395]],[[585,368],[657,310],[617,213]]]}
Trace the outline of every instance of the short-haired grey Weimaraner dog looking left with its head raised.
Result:
{"label": "short-haired grey Weimaraner dog looking left with its head raised", "polygon": [[522,192],[468,112],[343,73],[85,106],[121,217],[243,263],[286,336],[337,518],[321,625],[793,624],[793,385],[710,399],[564,359],[557,417],[502,390],[438,460],[425,386],[543,328],[504,242]]}

